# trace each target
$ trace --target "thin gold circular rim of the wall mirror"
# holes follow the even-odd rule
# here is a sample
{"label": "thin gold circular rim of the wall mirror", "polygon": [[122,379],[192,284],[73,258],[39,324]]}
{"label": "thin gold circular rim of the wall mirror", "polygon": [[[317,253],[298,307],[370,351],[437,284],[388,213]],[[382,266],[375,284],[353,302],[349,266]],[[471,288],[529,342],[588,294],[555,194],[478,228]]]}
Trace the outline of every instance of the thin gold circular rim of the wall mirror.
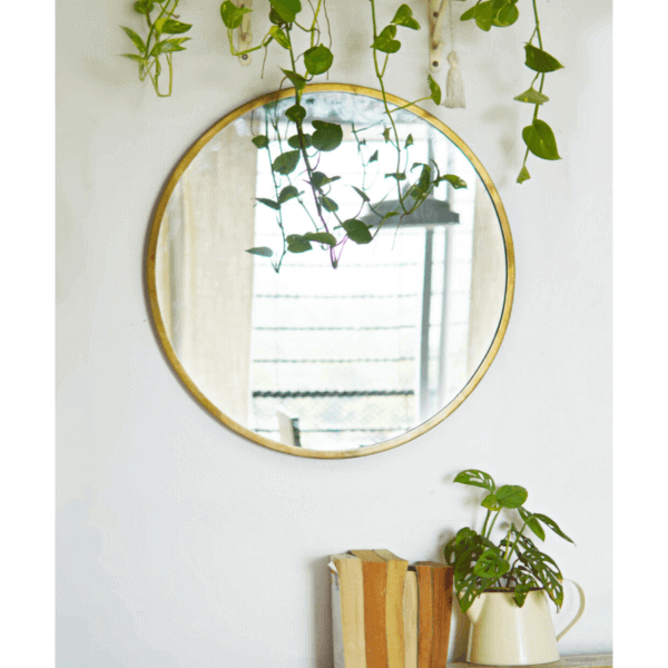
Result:
{"label": "thin gold circular rim of the wall mirror", "polygon": [[[373,88],[366,88],[364,86],[353,86],[350,84],[311,84],[305,87],[305,92],[352,92],[357,95],[365,95],[367,97],[372,97],[375,99],[382,99],[382,94],[380,90],[375,90]],[[441,130],[449,139],[451,139],[469,158],[475,170],[480,175],[492,202],[494,203],[494,208],[497,209],[497,214],[499,216],[499,222],[501,224],[501,232],[503,234],[503,244],[505,246],[505,295],[503,301],[503,311],[501,314],[501,320],[499,322],[499,327],[497,328],[497,334],[494,335],[494,340],[490,345],[490,348],[484,356],[482,363],[473,374],[473,376],[469,380],[466,385],[462,389],[462,391],[439,413],[430,418],[426,422],[418,425],[415,429],[402,434],[401,436],[396,436],[391,439],[390,441],[384,441],[379,443],[377,445],[370,445],[366,448],[357,448],[355,450],[343,450],[343,451],[331,451],[331,450],[307,450],[304,448],[293,448],[289,445],[284,445],[283,443],[278,443],[277,441],[273,441],[271,439],[266,439],[261,436],[259,434],[246,429],[245,426],[238,424],[234,420],[230,420],[225,413],[223,413],[217,406],[215,406],[197,387],[197,385],[193,382],[193,379],[186,373],[186,370],[183,367],[169,338],[167,337],[167,331],[165,328],[165,324],[163,322],[163,317],[160,314],[160,308],[158,306],[158,293],[156,285],[156,249],[158,243],[158,234],[160,232],[160,224],[163,220],[163,215],[165,214],[165,209],[167,207],[167,203],[169,202],[169,197],[178,179],[181,177],[183,173],[186,170],[188,165],[193,161],[195,156],[202,150],[202,148],[212,139],[215,135],[217,135],[225,126],[229,125],[239,116],[243,116],[247,111],[256,109],[257,107],[262,107],[263,105],[272,101],[276,101],[286,97],[294,96],[294,88],[284,89],[281,91],[274,91],[267,95],[264,95],[259,98],[256,98],[234,111],[229,112],[227,116],[218,120],[214,124],[195,144],[190,147],[185,157],[179,161],[176,166],[163,194],[160,195],[160,199],[158,202],[158,206],[156,208],[156,213],[153,218],[150,235],[148,239],[148,247],[146,254],[146,283],[148,291],[148,299],[150,304],[151,316],[154,321],[154,326],[158,334],[158,338],[160,340],[160,344],[169,363],[176,371],[180,381],[187,387],[187,390],[197,399],[197,401],[212,414],[214,418],[219,420],[223,424],[237,432],[242,436],[254,441],[255,443],[259,443],[265,448],[271,448],[272,450],[277,450],[279,452],[285,452],[287,454],[294,454],[297,456],[308,456],[315,459],[348,459],[354,456],[366,456],[367,454],[375,454],[376,452],[383,452],[385,450],[391,450],[392,448],[397,448],[399,445],[403,445],[413,439],[422,435],[428,432],[436,424],[445,420],[449,415],[451,415],[463,402],[464,400],[473,392],[478,383],[480,383],[482,376],[487,373],[488,369],[492,364],[499,347],[501,346],[501,342],[503,341],[503,336],[505,334],[505,330],[508,328],[508,323],[510,321],[510,312],[512,308],[512,299],[514,294],[514,282],[515,282],[515,265],[514,265],[514,249],[512,243],[512,236],[510,233],[510,226],[508,224],[508,217],[505,215],[505,209],[503,208],[503,204],[490,178],[490,175],[487,173],[485,168],[482,166],[480,160],[473,155],[471,149],[462,141],[462,139],[455,135],[444,122],[439,120],[435,116],[429,114],[424,109],[413,106],[411,107],[411,111],[413,111],[416,116],[420,116],[428,122],[432,124],[439,130]],[[387,100],[402,107],[407,105],[406,100],[403,100],[394,95],[387,94]]]}

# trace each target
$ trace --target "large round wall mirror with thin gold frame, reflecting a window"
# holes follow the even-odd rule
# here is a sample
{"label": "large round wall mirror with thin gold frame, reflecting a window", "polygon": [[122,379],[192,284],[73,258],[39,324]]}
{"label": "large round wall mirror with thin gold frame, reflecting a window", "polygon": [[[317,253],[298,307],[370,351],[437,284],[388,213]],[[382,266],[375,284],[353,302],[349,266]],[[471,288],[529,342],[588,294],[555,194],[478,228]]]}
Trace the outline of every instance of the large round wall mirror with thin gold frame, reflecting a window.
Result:
{"label": "large round wall mirror with thin gold frame, reflecting a window", "polygon": [[[147,279],[196,399],[283,452],[347,458],[424,433],[508,326],[510,228],[471,150],[379,91],[307,86],[233,111],[169,178]],[[298,130],[298,131],[297,131]]]}

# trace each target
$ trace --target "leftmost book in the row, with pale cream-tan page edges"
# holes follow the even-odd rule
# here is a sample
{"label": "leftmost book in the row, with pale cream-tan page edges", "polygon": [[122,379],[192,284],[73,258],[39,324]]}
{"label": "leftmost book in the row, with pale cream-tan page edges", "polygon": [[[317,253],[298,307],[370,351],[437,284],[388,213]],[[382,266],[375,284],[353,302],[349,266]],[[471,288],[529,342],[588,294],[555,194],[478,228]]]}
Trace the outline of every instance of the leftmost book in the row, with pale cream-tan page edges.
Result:
{"label": "leftmost book in the row, with pale cream-tan page edges", "polygon": [[334,668],[367,668],[362,560],[353,554],[333,554],[330,572]]}

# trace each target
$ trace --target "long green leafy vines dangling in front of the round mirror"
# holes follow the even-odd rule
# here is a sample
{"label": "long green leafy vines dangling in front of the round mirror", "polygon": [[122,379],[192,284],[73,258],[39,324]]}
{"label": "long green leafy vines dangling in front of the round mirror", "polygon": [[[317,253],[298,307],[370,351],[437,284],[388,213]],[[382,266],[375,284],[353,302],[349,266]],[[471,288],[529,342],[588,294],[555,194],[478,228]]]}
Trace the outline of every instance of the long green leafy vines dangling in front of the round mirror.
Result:
{"label": "long green leafy vines dangling in front of the round mirror", "polygon": [[[352,187],[361,198],[357,216],[366,205],[377,216],[379,222],[369,225],[357,216],[342,219],[332,186],[341,177],[320,171],[317,165],[323,154],[334,151],[341,146],[343,128],[336,122],[314,119],[311,121],[313,131],[306,131],[306,109],[302,105],[305,86],[316,77],[325,75],[334,62],[334,55],[330,48],[331,43],[325,46],[321,41],[323,35],[321,20],[328,22],[325,0],[318,0],[316,6],[311,4],[312,16],[306,21],[301,17],[302,4],[299,0],[269,0],[269,4],[272,27],[259,45],[246,50],[235,48],[233,30],[242,24],[244,14],[249,10],[235,6],[230,0],[226,0],[220,6],[220,17],[227,28],[229,49],[233,56],[244,56],[262,48],[266,50],[273,41],[277,42],[279,48],[286,52],[289,61],[286,63],[288,68],[281,68],[284,73],[282,86],[284,82],[289,81],[295,89],[295,104],[284,111],[287,134],[282,135],[279,122],[282,119],[277,114],[271,120],[272,139],[274,145],[279,146],[278,155],[271,153],[269,120],[266,121],[265,134],[253,138],[253,143],[258,149],[266,149],[267,151],[273,179],[272,197],[259,197],[258,202],[276,212],[276,224],[281,230],[283,247],[276,254],[266,246],[249,248],[248,253],[274,258],[273,267],[278,272],[287,253],[305,253],[313,248],[313,244],[317,244],[327,250],[331,265],[336,268],[348,240],[354,244],[371,243],[385,222],[396,216],[399,217],[399,225],[401,225],[402,220],[418,210],[433,189],[443,181],[448,181],[454,188],[465,188],[466,184],[456,175],[441,175],[438,165],[433,161],[432,165],[424,163],[410,165],[409,148],[413,144],[413,137],[409,136],[403,143],[400,140],[393,114],[424,100],[432,100],[439,105],[441,102],[441,89],[430,75],[428,77],[430,90],[428,96],[399,108],[389,102],[384,76],[391,56],[401,49],[401,41],[397,39],[401,35],[400,30],[420,30],[420,23],[413,17],[411,8],[407,4],[402,4],[396,10],[392,21],[379,31],[375,2],[370,0],[373,26],[373,40],[370,48],[373,53],[374,70],[381,90],[385,122],[376,124],[375,127],[370,126],[360,131],[356,131],[353,125],[353,136],[357,144],[357,157],[363,177],[357,186]],[[294,47],[295,32],[308,36],[310,46],[302,53],[298,53]],[[301,67],[297,65],[299,61],[302,61]],[[376,138],[382,136],[384,144],[389,144],[395,154],[394,170],[384,174],[384,178],[394,184],[392,189],[396,191],[396,199],[393,202],[396,205],[392,210],[383,213],[371,204],[371,198],[365,188],[367,169],[372,163],[377,161],[377,150],[370,155],[366,149],[369,136],[362,136],[363,131],[370,129],[375,131]],[[294,135],[291,135],[293,131]],[[297,187],[297,183],[303,181],[307,184],[310,190],[306,196]],[[313,230],[287,234],[283,209],[284,205],[293,199],[296,199],[305,212],[313,225]]]}

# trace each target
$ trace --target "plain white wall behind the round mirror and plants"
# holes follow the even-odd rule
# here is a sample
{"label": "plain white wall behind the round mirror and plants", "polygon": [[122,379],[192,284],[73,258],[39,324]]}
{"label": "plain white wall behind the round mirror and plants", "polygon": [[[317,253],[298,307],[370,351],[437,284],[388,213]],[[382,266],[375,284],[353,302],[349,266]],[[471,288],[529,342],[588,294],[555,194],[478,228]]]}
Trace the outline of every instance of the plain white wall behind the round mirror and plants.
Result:
{"label": "plain white wall behind the round mirror and plants", "polygon": [[[560,648],[609,651],[611,2],[539,2],[546,48],[566,65],[548,77],[543,107],[564,159],[531,159],[522,186],[531,108],[512,97],[530,82],[530,3],[510,29],[459,27],[469,106],[435,112],[505,204],[510,327],[452,416],[344,461],[284,455],[212,419],[161,355],[145,297],[144,245],[166,177],[210,124],[275,89],[276,67],[261,80],[259,58],[242,68],[226,52],[218,0],[183,2],[194,39],[175,57],[174,96],[157,99],[116,56],[129,50],[116,26],[138,26],[129,0],[57,4],[58,666],[326,668],[326,556],[435,557],[477,517],[451,483],[465,468],[525,485],[530,508],[576,539],[546,548],[588,596]],[[400,2],[380,4],[383,21]],[[412,2],[423,26],[425,4]],[[331,80],[375,87],[367,3],[331,0],[330,12]],[[426,92],[424,28],[404,41],[387,84],[415,99]]]}

